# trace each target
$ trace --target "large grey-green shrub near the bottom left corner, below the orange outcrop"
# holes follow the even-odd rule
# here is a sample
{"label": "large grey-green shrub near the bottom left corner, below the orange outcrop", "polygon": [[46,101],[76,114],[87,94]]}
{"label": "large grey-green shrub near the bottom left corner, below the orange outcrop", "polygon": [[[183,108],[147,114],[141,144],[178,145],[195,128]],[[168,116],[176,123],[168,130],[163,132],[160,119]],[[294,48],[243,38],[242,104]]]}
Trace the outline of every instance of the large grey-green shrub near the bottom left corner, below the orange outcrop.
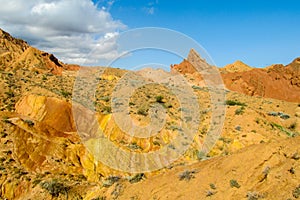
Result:
{"label": "large grey-green shrub near the bottom left corner, below the orange outcrop", "polygon": [[57,180],[45,181],[40,183],[40,186],[47,190],[52,197],[58,197],[60,194],[67,195],[70,188]]}

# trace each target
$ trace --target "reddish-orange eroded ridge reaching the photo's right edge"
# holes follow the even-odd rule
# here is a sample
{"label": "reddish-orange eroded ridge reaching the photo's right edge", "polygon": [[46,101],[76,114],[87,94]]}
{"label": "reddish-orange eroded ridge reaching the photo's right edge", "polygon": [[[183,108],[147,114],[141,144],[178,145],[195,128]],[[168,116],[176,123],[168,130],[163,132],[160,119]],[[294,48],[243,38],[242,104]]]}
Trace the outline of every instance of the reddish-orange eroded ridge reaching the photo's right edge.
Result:
{"label": "reddish-orange eroded ridge reaching the photo's right edge", "polygon": [[299,66],[274,65],[267,70],[222,74],[226,87],[250,96],[262,96],[291,102],[300,101]]}

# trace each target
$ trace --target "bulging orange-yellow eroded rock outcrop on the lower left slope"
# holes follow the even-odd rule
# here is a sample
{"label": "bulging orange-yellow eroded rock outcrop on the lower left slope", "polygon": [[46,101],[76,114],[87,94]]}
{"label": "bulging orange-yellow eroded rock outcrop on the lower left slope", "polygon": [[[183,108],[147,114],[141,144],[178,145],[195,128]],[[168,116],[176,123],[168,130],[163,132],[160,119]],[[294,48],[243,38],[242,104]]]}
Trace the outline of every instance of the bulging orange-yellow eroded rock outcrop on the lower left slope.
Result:
{"label": "bulging orange-yellow eroded rock outcrop on the lower left slope", "polygon": [[[11,123],[14,159],[30,173],[83,175],[99,181],[112,169],[98,163],[78,135],[71,104],[29,95],[16,105]],[[81,110],[84,115],[84,110]],[[89,114],[89,113],[88,113]],[[6,186],[8,187],[8,186]],[[16,187],[9,191],[16,195]],[[5,192],[6,193],[6,192]]]}

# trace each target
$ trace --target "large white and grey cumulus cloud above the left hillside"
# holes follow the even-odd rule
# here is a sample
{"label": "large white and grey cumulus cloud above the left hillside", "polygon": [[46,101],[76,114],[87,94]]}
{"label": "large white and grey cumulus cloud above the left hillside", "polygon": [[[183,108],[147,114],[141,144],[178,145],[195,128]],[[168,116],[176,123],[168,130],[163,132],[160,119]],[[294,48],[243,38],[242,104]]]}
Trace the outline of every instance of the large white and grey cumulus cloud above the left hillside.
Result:
{"label": "large white and grey cumulus cloud above the left hillside", "polygon": [[95,64],[119,54],[115,38],[126,26],[109,13],[113,1],[105,7],[91,0],[0,0],[0,4],[2,29],[64,62]]}

